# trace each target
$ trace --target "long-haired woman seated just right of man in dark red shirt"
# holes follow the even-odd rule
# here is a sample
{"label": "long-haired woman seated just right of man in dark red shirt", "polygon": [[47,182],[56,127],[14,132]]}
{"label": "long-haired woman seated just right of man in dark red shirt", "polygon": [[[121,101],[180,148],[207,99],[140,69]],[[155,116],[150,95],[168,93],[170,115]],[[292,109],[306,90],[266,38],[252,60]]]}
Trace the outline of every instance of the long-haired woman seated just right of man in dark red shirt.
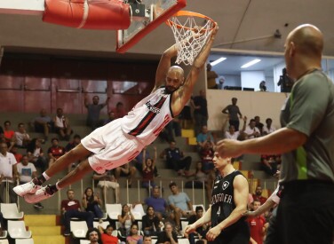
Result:
{"label": "long-haired woman seated just right of man in dark red shirt", "polygon": [[94,194],[91,187],[87,187],[83,193],[83,209],[86,212],[93,213],[94,217],[99,218],[99,223],[102,223],[103,212],[100,209],[100,205],[102,205],[102,201],[99,198],[99,194]]}

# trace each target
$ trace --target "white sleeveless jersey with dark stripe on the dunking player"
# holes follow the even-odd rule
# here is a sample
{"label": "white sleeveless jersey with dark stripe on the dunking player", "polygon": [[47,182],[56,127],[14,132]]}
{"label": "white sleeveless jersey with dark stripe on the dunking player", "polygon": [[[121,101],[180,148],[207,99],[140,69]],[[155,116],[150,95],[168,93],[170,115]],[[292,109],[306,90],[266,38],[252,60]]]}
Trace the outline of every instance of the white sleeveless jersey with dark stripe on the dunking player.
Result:
{"label": "white sleeveless jersey with dark stripe on the dunking player", "polygon": [[122,118],[122,129],[143,144],[149,145],[172,118],[171,94],[166,93],[163,86],[139,101],[129,114]]}

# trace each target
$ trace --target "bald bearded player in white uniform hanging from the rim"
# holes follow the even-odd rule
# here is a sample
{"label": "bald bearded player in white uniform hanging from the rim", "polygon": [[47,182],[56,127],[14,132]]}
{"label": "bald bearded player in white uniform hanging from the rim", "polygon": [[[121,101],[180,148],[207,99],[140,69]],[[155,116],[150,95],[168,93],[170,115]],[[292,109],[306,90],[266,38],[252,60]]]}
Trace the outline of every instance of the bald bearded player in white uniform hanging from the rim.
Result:
{"label": "bald bearded player in white uniform hanging from the rim", "polygon": [[[195,57],[186,79],[181,67],[171,67],[171,59],[178,55],[178,46],[174,44],[163,52],[155,74],[155,87],[150,95],[139,101],[123,118],[92,131],[82,139],[81,144],[61,156],[41,176],[14,187],[14,192],[29,203],[43,201],[92,170],[103,173],[134,159],[186,105],[218,29],[216,24],[202,51]],[[68,169],[73,161],[79,160],[83,161],[56,185],[41,186],[61,170]]]}

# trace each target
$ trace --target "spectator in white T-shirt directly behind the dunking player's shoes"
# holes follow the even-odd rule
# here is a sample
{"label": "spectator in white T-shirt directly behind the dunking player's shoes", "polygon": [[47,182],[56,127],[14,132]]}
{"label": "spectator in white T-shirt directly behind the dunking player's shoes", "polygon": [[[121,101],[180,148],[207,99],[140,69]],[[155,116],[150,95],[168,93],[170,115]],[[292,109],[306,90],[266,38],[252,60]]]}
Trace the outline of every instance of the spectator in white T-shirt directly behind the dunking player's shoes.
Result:
{"label": "spectator in white T-shirt directly behind the dunking player's shoes", "polygon": [[[37,171],[35,165],[28,161],[28,155],[22,157],[22,161],[16,164],[18,173],[20,176],[20,184],[24,184],[32,180],[34,177],[37,177]],[[43,205],[40,202],[34,204],[36,209],[44,209]]]}

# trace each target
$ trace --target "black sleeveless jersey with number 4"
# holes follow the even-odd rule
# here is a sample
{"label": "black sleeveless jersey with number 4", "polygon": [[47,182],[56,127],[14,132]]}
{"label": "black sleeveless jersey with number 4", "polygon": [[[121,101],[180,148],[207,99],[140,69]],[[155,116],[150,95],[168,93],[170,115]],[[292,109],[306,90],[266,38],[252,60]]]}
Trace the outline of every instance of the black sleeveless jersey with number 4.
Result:
{"label": "black sleeveless jersey with number 4", "polygon": [[[227,216],[230,216],[235,209],[235,193],[233,181],[235,177],[243,174],[235,170],[226,177],[216,177],[211,194],[211,226],[214,227],[222,222]],[[240,218],[235,224],[232,224],[225,229],[234,229],[240,222],[244,222],[244,217]]]}

